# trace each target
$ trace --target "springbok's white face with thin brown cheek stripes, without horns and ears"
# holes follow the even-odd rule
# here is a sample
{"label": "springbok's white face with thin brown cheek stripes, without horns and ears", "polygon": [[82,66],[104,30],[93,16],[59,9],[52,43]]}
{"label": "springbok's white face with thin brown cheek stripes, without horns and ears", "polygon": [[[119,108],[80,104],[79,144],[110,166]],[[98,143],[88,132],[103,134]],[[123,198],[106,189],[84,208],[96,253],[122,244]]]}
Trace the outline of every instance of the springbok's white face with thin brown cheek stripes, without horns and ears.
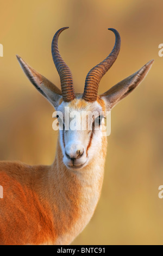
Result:
{"label": "springbok's white face with thin brown cheek stripes, without horns and ears", "polygon": [[[104,112],[96,102],[75,99],[57,109],[63,161],[70,169],[80,169],[96,157],[104,133]],[[62,115],[62,118],[61,118]],[[99,118],[100,116],[100,118]],[[68,118],[67,118],[68,117]],[[68,125],[67,125],[68,123]]]}

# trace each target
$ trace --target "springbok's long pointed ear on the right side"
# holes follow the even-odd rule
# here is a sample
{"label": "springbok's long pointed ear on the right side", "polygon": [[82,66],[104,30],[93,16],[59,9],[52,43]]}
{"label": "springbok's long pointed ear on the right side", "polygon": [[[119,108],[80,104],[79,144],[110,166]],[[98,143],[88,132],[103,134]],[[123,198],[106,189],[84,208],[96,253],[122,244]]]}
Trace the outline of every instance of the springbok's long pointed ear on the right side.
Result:
{"label": "springbok's long pointed ear on the right side", "polygon": [[100,95],[106,103],[106,108],[110,110],[114,107],[120,100],[130,94],[146,77],[148,71],[151,69],[154,60],[151,60],[146,65],[134,73],[133,75],[127,77],[123,81],[117,83],[114,87],[110,88],[107,92]]}

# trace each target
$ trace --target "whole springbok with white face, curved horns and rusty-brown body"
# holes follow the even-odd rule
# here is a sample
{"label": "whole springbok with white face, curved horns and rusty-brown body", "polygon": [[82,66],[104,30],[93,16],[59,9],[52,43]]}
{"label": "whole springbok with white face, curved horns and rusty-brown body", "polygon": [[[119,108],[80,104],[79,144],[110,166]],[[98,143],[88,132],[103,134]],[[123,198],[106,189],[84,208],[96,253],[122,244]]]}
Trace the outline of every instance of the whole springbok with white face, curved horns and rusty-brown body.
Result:
{"label": "whole springbok with white face, curved horns and rusty-brown body", "polygon": [[[102,77],[114,64],[121,38],[116,29],[115,46],[109,56],[90,70],[83,94],[75,94],[72,74],[58,50],[61,28],[52,41],[52,56],[60,76],[61,90],[17,56],[23,71],[55,110],[110,111],[147,75],[153,60],[139,71],[98,96]],[[59,123],[61,120],[57,115]],[[65,117],[64,117],[65,118]],[[107,140],[104,119],[92,120],[99,129],[60,130],[57,153],[51,166],[0,162],[0,244],[68,245],[90,221],[99,200],[104,175]],[[93,127],[93,125],[92,125]],[[98,149],[98,153],[97,153]]]}

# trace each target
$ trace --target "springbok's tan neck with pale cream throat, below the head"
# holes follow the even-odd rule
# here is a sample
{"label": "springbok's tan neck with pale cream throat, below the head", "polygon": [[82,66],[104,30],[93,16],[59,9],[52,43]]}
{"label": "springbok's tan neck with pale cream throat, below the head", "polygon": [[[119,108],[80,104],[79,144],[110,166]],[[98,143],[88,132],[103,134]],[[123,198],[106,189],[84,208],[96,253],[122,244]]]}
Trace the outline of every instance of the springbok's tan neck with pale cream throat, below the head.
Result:
{"label": "springbok's tan neck with pale cream throat, below the head", "polygon": [[58,141],[55,161],[49,171],[49,195],[57,245],[70,244],[96,209],[103,183],[106,144],[106,137],[103,137],[98,155],[86,167],[74,171],[64,165]]}

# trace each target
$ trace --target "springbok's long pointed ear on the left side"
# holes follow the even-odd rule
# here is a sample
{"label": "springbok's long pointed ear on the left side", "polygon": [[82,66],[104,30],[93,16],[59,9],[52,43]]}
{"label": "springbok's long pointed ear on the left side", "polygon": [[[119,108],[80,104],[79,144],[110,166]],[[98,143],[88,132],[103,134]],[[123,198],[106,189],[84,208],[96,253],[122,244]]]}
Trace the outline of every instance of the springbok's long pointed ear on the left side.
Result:
{"label": "springbok's long pointed ear on the left side", "polygon": [[61,90],[55,86],[52,82],[47,80],[46,77],[40,75],[37,71],[31,68],[24,60],[16,56],[18,62],[21,65],[26,76],[29,78],[30,82],[33,83],[35,88],[39,90],[39,92],[46,97],[46,99],[57,108],[59,105],[59,100],[62,98]]}

